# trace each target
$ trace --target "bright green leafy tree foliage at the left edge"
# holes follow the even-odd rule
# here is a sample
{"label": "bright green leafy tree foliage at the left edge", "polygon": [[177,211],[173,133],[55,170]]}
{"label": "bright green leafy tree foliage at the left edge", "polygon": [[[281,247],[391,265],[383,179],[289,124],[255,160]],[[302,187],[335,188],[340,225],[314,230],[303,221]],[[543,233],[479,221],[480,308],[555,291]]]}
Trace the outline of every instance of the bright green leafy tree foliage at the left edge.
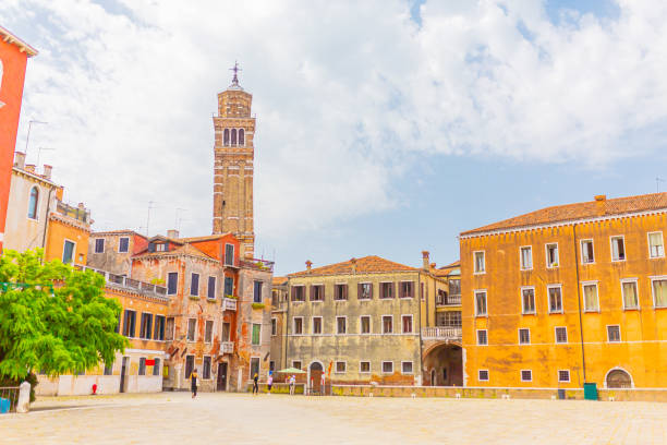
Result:
{"label": "bright green leafy tree foliage at the left edge", "polygon": [[0,288],[0,378],[75,374],[129,345],[114,333],[122,308],[100,275],[41,258],[40,249],[0,256],[0,282],[12,284]]}

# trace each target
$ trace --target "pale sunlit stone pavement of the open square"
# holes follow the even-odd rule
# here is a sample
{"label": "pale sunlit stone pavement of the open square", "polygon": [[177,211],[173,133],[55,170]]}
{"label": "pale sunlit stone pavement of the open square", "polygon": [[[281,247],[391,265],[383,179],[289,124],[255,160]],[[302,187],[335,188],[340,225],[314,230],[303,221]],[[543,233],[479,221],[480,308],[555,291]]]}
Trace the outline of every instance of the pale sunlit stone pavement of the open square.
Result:
{"label": "pale sunlit stone pavement of the open square", "polygon": [[186,393],[58,397],[0,444],[667,444],[667,404]]}

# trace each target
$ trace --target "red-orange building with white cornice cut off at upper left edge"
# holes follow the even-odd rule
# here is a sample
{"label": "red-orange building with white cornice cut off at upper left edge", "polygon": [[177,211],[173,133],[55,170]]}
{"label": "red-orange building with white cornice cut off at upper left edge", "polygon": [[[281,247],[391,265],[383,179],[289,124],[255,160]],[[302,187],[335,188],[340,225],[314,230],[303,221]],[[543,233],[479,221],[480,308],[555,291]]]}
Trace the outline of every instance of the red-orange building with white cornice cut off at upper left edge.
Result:
{"label": "red-orange building with white cornice cut off at upper left edge", "polygon": [[27,58],[37,50],[0,26],[0,251],[14,164]]}

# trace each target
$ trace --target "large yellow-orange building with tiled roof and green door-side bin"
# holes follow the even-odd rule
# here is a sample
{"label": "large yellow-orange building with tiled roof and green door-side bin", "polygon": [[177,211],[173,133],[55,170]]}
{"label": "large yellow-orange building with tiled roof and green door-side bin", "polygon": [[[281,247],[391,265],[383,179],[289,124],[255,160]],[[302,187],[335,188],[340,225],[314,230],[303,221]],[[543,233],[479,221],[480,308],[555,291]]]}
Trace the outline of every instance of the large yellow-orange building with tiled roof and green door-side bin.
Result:
{"label": "large yellow-orange building with tiled roof and green door-side bin", "polygon": [[466,386],[667,387],[667,193],[461,233]]}

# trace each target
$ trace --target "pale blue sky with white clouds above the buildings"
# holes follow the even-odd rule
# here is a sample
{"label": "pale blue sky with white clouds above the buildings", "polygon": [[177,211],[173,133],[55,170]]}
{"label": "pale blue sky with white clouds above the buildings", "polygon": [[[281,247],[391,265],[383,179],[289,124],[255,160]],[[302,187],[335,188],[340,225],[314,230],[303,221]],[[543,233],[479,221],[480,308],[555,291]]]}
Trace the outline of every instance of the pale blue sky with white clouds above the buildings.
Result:
{"label": "pale blue sky with white clouds above the buildings", "polygon": [[16,148],[48,122],[28,163],[94,230],[210,233],[211,116],[239,61],[277,274],[440,266],[464,230],[667,191],[666,21],[663,0],[0,0],[39,50]]}

